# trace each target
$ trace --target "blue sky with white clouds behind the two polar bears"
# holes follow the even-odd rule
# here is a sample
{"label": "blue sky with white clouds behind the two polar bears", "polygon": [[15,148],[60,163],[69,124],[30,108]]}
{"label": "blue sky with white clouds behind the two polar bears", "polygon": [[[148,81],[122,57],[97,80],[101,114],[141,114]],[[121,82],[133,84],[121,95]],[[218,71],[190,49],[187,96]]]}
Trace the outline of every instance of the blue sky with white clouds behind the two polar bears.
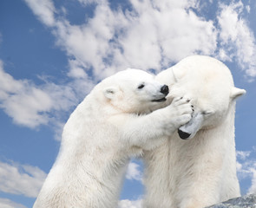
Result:
{"label": "blue sky with white clouds behind the two polar bears", "polygon": [[[104,77],[158,73],[187,55],[225,62],[247,93],[237,103],[242,194],[256,193],[256,3],[218,0],[2,0],[0,206],[31,207],[62,126]],[[140,207],[142,162],[128,166],[120,208]]]}

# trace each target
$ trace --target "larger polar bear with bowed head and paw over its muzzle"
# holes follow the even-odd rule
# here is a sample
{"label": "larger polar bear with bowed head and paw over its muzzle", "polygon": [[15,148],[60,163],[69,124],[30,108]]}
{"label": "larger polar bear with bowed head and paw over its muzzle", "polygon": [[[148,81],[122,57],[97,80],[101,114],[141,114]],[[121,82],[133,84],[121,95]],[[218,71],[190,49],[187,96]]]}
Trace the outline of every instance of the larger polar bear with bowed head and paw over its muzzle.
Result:
{"label": "larger polar bear with bowed head and paw over its muzzle", "polygon": [[222,62],[203,55],[188,56],[156,79],[170,88],[167,100],[191,97],[194,114],[161,146],[145,151],[143,207],[201,208],[239,197],[234,113],[246,91],[233,86]]}

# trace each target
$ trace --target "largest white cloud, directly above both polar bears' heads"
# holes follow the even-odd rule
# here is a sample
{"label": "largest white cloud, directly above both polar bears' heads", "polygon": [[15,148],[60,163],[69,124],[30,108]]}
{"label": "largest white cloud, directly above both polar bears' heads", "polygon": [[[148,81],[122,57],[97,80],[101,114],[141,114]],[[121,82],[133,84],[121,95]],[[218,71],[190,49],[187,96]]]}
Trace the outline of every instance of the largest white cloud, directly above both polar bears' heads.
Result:
{"label": "largest white cloud, directly above both polar bears' heads", "polygon": [[[190,10],[196,1],[132,0],[133,10],[124,12],[111,10],[107,1],[96,2],[95,16],[87,24],[71,25],[68,19],[57,16],[52,31],[67,55],[82,62],[82,69],[93,68],[98,80],[127,67],[160,70],[187,55],[213,55],[216,49],[213,22]],[[29,5],[45,23],[43,15]],[[56,13],[50,11],[49,16]],[[81,68],[71,69],[69,75],[82,74]]]}

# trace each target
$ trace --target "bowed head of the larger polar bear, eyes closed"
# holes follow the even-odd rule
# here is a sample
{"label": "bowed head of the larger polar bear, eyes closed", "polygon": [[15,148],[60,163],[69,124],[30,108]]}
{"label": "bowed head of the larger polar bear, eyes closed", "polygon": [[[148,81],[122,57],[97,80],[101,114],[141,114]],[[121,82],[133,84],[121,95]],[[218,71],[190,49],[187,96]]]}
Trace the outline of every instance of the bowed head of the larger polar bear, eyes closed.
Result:
{"label": "bowed head of the larger polar bear, eyes closed", "polygon": [[235,88],[230,70],[222,62],[203,55],[189,56],[156,76],[170,88],[169,99],[187,95],[192,99],[192,120],[179,128],[181,139],[190,139],[200,129],[218,127],[233,110],[235,99],[245,94]]}

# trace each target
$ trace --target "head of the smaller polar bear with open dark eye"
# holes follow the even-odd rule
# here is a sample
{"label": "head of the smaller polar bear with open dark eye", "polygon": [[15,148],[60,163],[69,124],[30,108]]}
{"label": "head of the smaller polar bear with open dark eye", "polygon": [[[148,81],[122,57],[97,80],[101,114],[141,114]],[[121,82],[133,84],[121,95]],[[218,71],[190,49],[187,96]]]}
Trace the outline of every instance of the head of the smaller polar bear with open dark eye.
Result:
{"label": "head of the smaller polar bear with open dark eye", "polygon": [[132,68],[108,77],[99,86],[105,105],[135,114],[150,112],[154,106],[166,101],[169,92],[167,85],[154,80],[154,75]]}

